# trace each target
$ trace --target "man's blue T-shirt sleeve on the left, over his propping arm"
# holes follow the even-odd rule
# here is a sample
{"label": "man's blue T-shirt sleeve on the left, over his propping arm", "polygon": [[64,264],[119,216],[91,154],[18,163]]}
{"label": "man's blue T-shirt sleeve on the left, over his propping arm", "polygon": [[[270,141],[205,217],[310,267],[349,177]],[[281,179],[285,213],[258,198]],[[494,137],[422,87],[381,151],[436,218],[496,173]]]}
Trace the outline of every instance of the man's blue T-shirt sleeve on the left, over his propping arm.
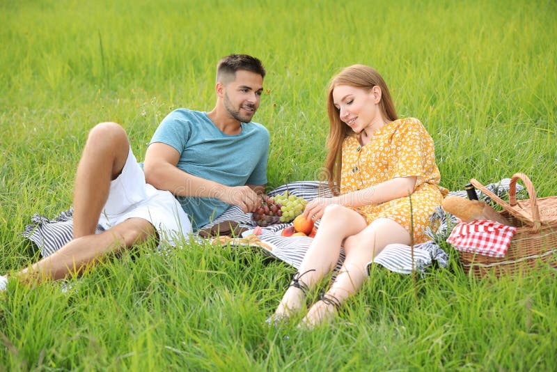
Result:
{"label": "man's blue T-shirt sleeve on the left, over his propping arm", "polygon": [[162,144],[167,144],[172,146],[178,153],[182,153],[189,139],[191,133],[191,127],[187,120],[187,116],[182,110],[174,110],[168,114],[155,130],[155,134],[152,135],[149,144],[154,144],[155,142],[161,142]]}

